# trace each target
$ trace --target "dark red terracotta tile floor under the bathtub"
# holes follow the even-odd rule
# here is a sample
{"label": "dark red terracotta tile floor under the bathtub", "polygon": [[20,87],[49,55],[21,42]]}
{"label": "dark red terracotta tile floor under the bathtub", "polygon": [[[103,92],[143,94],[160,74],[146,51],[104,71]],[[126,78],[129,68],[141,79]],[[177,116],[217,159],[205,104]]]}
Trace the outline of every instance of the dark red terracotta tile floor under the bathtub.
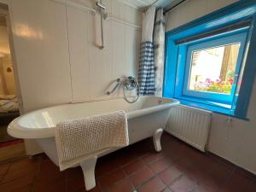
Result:
{"label": "dark red terracotta tile floor under the bathtub", "polygon": [[[93,192],[256,192],[255,178],[164,134],[100,158]],[[1,192],[83,192],[79,167],[60,172],[44,154],[0,165]]]}

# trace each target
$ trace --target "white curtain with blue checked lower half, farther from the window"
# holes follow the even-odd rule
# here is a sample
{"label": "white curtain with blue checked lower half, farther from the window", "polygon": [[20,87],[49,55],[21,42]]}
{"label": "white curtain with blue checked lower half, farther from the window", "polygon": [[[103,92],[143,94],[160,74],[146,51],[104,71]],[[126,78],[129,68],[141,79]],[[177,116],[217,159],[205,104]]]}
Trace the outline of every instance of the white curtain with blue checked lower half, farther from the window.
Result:
{"label": "white curtain with blue checked lower half, farther from the window", "polygon": [[150,7],[143,14],[143,35],[138,73],[140,94],[142,95],[154,95],[154,12],[155,8]]}

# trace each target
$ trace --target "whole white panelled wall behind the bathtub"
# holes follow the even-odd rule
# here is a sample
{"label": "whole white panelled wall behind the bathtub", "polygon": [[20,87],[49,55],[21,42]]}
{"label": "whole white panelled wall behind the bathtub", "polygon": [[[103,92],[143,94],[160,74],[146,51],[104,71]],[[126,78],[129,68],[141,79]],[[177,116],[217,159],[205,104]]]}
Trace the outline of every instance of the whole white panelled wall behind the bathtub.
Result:
{"label": "whole white panelled wall behind the bathtub", "polygon": [[[96,8],[94,0],[71,1]],[[113,79],[137,75],[140,28],[104,20],[106,47],[101,50],[96,46],[100,43],[99,12],[92,15],[60,2],[9,2],[25,112],[108,99],[105,91]],[[103,3],[108,15],[141,25],[142,14],[137,9],[117,0]]]}

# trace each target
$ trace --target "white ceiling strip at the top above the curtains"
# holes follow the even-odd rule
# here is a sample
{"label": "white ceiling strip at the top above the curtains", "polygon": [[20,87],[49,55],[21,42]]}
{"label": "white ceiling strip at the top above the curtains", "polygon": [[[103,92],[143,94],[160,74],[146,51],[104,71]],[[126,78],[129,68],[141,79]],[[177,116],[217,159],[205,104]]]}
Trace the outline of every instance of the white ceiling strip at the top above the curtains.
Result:
{"label": "white ceiling strip at the top above the curtains", "polygon": [[168,9],[170,7],[173,7],[175,4],[182,2],[183,0],[119,0],[119,1],[137,9],[143,9],[150,5]]}

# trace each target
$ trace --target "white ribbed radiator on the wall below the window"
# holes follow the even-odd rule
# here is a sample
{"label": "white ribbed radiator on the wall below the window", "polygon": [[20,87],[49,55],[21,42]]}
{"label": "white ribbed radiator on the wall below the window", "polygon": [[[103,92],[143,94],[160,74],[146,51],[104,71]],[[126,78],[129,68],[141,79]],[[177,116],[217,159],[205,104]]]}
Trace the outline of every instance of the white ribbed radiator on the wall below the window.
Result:
{"label": "white ribbed radiator on the wall below the window", "polygon": [[211,116],[209,111],[179,105],[171,109],[166,131],[204,152]]}

